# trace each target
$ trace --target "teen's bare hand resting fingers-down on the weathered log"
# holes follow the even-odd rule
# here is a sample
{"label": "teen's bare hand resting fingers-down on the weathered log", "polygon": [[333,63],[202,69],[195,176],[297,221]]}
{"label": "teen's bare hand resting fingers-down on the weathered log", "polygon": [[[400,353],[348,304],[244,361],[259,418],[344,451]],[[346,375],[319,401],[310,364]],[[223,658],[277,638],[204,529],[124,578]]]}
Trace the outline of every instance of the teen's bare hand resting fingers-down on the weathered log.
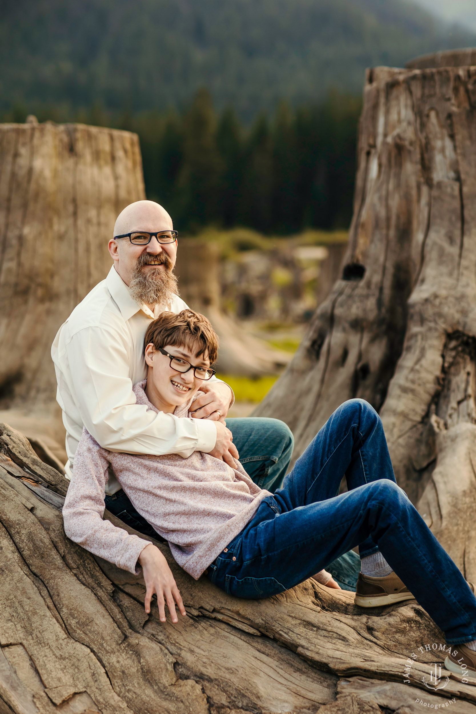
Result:
{"label": "teen's bare hand resting fingers-down on the weathered log", "polygon": [[[153,543],[149,543],[141,551],[138,561],[142,566],[143,579],[146,581],[146,601],[144,606],[146,613],[151,612],[151,598],[153,593],[157,595],[158,614],[161,622],[166,621],[165,603],[171,613],[172,622],[178,622],[175,603],[182,615],[186,615],[181,594],[177,588],[176,581],[173,579],[172,571],[168,567],[168,563],[164,555]],[[174,603],[175,600],[175,603]]]}

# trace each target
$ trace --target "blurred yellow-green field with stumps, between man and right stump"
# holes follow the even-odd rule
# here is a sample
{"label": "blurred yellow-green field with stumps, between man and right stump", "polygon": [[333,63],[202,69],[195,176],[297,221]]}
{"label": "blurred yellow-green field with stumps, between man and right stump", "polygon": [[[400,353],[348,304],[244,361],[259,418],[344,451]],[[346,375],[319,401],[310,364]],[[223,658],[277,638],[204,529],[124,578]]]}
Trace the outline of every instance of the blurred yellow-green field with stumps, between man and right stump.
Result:
{"label": "blurred yellow-green field with stumps, between man and right stump", "polygon": [[[219,376],[230,384],[236,397],[229,416],[248,416],[298,349],[315,309],[339,277],[348,232],[308,229],[283,237],[265,236],[246,228],[208,228],[193,240],[203,246],[200,253],[205,248],[211,252],[206,286],[198,284],[190,293],[190,278],[185,281],[183,296],[188,303],[206,312],[208,302],[213,301],[234,326],[239,326],[245,342],[257,339],[287,357],[275,368],[271,365],[272,374],[263,373],[265,368],[240,374],[219,369]],[[190,251],[189,240],[184,247],[176,268],[179,284],[182,261]],[[192,263],[195,265],[193,257]],[[196,293],[203,296],[208,291],[211,298],[206,298],[205,304],[197,304]],[[253,353],[252,346],[250,351]]]}

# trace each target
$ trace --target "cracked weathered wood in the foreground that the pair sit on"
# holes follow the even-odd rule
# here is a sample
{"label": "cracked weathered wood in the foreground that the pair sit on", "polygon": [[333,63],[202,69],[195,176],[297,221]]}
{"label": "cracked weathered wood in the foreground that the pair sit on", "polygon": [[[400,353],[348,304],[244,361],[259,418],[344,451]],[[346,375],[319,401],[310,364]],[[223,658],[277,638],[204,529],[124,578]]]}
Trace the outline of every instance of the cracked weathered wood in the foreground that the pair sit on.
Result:
{"label": "cracked weathered wood in the foreground that the pair sit on", "polygon": [[156,605],[146,615],[140,575],[66,538],[66,486],[20,433],[1,426],[1,713],[406,714],[419,712],[420,700],[445,707],[452,699],[451,711],[476,713],[470,685],[425,688],[444,639],[417,603],[362,611],[353,593],[313,579],[240,600],[190,578],[156,543],[188,615],[176,625],[161,623]]}

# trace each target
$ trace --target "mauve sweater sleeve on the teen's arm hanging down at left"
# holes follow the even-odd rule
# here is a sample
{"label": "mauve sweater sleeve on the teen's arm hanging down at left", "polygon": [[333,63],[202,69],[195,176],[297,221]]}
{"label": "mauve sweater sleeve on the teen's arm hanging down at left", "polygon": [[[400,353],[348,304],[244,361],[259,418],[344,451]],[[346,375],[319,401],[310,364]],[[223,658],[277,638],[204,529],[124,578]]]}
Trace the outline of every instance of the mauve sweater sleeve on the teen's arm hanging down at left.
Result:
{"label": "mauve sweater sleeve on the teen's arm hanging down at left", "polygon": [[103,521],[107,471],[107,451],[83,429],[63,506],[64,531],[90,553],[138,575],[137,560],[149,541]]}

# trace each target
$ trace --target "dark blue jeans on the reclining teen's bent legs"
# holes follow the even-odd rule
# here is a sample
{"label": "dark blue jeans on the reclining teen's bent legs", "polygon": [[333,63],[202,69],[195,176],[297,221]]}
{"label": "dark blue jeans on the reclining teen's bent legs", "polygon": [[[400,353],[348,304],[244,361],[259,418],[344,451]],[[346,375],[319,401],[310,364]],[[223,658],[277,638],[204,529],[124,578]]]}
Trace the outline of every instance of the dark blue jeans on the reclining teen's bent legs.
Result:
{"label": "dark blue jeans on the reclining teen's bent legs", "polygon": [[[348,493],[338,496],[345,474]],[[341,405],[208,578],[240,598],[292,588],[359,546],[380,550],[448,643],[476,638],[476,598],[397,486],[382,422],[365,401]]]}

